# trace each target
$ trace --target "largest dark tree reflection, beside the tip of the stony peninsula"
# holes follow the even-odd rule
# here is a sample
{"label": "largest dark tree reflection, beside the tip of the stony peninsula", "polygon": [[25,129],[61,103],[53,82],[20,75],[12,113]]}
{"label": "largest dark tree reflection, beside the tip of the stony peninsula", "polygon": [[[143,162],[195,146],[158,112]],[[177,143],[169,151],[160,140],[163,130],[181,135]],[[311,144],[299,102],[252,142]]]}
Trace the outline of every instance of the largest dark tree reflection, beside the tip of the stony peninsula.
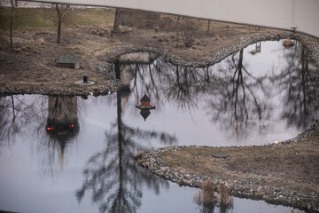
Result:
{"label": "largest dark tree reflection, beside the tip of the stony peninsula", "polygon": [[113,124],[113,130],[105,132],[105,149],[93,154],[86,163],[85,180],[76,192],[81,202],[85,192],[92,190],[92,201],[99,203],[100,212],[136,212],[141,206],[143,185],[155,193],[159,193],[159,188],[168,187],[166,180],[140,167],[134,156],[137,151],[147,148],[144,140],[157,138],[164,144],[173,145],[176,138],[164,132],[129,127],[122,122],[121,114],[121,92],[118,92],[117,122]]}

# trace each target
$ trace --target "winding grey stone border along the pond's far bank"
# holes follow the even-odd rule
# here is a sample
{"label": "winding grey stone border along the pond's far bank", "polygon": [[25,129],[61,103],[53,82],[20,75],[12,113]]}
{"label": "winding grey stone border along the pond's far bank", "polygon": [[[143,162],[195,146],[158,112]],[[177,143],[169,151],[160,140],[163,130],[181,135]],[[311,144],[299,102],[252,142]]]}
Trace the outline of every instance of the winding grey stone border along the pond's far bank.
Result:
{"label": "winding grey stone border along the pond's far bank", "polygon": [[[120,81],[116,80],[115,74],[113,71],[112,63],[119,59],[123,54],[133,53],[133,52],[151,52],[156,53],[163,59],[167,60],[169,63],[180,65],[180,66],[189,66],[189,67],[207,67],[215,63],[220,62],[222,59],[230,56],[231,54],[240,51],[246,46],[257,43],[260,41],[276,41],[291,37],[297,39],[303,43],[308,51],[311,59],[315,61],[316,67],[319,67],[319,41],[310,36],[304,36],[300,34],[294,34],[289,32],[274,32],[274,33],[264,33],[264,34],[253,34],[249,36],[244,36],[233,45],[227,46],[222,49],[222,51],[216,52],[211,58],[203,59],[194,62],[184,61],[183,59],[176,57],[174,50],[160,50],[148,47],[135,47],[135,46],[123,46],[117,51],[108,52],[105,56],[99,57],[97,59],[97,64],[95,68],[97,72],[103,73],[109,77],[108,83],[100,85],[99,88],[90,89],[89,86],[78,87],[78,88],[44,88],[44,87],[35,87],[35,88],[23,88],[19,86],[6,86],[2,85],[0,87],[0,93],[2,94],[43,94],[43,95],[66,95],[66,96],[88,96],[88,95],[105,95],[113,91],[117,91],[121,88]],[[1,84],[0,84],[1,85]]]}

